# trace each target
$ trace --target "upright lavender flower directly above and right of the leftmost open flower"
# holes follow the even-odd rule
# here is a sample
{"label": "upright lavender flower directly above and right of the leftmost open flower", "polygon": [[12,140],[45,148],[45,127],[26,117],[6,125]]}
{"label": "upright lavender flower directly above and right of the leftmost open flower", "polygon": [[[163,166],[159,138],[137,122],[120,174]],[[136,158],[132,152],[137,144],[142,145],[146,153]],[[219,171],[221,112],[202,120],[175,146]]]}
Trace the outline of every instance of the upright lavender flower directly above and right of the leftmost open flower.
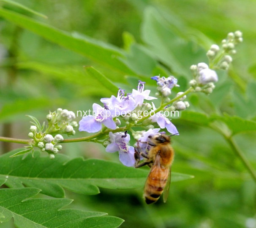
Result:
{"label": "upright lavender flower directly above and right of the leftmost open flower", "polygon": [[117,97],[112,95],[111,98],[101,98],[101,102],[109,110],[114,111],[114,116],[125,115],[136,108],[136,102],[131,94],[125,96],[124,90],[121,89],[118,90]]}

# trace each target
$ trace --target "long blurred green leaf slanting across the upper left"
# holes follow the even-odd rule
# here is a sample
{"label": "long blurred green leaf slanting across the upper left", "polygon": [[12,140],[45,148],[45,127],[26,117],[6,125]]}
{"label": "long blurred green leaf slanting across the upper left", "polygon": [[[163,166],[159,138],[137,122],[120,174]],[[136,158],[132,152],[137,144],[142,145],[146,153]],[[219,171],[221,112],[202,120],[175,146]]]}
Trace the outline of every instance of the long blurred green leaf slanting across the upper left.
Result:
{"label": "long blurred green leaf slanting across the upper left", "polygon": [[94,40],[78,33],[70,34],[68,32],[63,32],[60,29],[56,29],[47,24],[3,8],[0,8],[0,16],[24,29],[35,32],[51,42],[73,50],[76,53],[80,53],[83,56],[100,63],[102,66],[106,66],[121,74],[133,74],[133,72],[119,59],[123,56],[123,50],[114,47],[113,45]]}

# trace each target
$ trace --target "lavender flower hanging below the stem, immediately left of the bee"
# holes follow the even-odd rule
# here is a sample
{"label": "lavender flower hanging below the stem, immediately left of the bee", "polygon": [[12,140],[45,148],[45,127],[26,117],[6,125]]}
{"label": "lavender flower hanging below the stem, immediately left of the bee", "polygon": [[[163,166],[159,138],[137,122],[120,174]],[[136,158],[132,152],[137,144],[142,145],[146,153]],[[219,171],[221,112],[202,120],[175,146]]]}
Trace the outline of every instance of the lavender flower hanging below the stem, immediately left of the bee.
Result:
{"label": "lavender flower hanging below the stem, immediately left of the bee", "polygon": [[119,160],[125,166],[134,166],[134,147],[129,146],[130,135],[125,133],[112,133],[109,132],[110,144],[106,147],[106,151],[113,153],[119,151]]}

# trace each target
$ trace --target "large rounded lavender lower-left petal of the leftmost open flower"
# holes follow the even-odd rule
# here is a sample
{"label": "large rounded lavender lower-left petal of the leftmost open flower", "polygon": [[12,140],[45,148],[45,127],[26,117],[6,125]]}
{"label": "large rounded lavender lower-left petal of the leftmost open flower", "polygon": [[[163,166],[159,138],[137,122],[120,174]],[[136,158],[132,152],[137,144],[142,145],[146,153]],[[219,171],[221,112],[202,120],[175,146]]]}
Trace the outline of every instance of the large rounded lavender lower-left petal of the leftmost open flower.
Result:
{"label": "large rounded lavender lower-left petal of the leftmost open flower", "polygon": [[89,133],[95,133],[101,130],[101,123],[97,122],[92,115],[83,117],[79,121],[79,131],[87,131]]}

